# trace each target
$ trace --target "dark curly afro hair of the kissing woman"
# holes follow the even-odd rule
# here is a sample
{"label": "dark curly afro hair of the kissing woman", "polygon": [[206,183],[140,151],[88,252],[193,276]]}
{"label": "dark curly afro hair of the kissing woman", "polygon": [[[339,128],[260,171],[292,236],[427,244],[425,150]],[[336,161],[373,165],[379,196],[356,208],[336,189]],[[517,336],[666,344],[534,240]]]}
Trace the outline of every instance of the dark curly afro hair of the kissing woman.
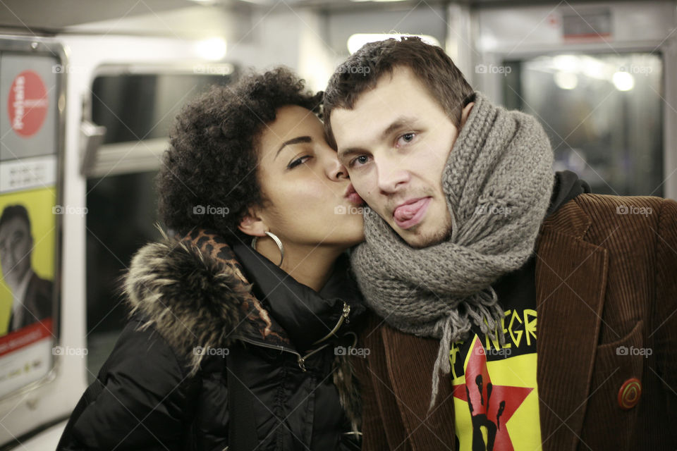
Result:
{"label": "dark curly afro hair of the kissing woman", "polygon": [[291,70],[279,67],[214,86],[184,106],[157,175],[161,221],[178,233],[208,228],[228,242],[244,240],[240,221],[265,202],[257,176],[259,137],[286,105],[319,116],[322,92],[312,94]]}

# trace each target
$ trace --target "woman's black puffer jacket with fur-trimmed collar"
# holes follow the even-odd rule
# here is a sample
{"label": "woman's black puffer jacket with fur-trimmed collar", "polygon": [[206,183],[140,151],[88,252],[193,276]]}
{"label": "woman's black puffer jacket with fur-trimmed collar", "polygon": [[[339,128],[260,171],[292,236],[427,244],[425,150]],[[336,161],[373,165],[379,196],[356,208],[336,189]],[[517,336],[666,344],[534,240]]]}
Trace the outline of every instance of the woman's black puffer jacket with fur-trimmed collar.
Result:
{"label": "woman's black puffer jacket with fur-trimmed collar", "polygon": [[58,449],[358,449],[359,357],[338,346],[365,307],[347,263],[317,293],[205,231],[143,247],[133,316]]}

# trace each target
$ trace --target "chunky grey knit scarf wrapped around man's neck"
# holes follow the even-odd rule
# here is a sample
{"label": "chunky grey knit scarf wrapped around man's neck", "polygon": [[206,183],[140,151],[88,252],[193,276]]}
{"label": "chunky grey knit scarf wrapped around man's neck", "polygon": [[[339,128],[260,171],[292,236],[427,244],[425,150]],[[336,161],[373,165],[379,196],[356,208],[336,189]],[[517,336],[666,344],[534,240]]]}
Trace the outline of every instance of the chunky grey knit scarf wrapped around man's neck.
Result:
{"label": "chunky grey knit scarf wrapped around man's neck", "polygon": [[[451,236],[414,249],[371,209],[352,263],[367,303],[405,333],[440,339],[432,375],[449,374],[452,341],[472,324],[496,338],[504,311],[492,283],[529,259],[552,192],[553,154],[532,116],[475,93],[442,173]],[[504,335],[499,333],[504,342]]]}

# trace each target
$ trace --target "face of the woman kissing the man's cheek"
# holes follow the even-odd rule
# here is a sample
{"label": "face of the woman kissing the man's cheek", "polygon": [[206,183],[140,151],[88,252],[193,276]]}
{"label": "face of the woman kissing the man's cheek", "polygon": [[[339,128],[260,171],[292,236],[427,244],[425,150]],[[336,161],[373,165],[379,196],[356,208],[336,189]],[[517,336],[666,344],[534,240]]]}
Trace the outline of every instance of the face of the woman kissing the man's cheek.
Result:
{"label": "face of the woman kissing the man's cheek", "polygon": [[257,216],[288,247],[347,249],[364,240],[364,202],[315,113],[283,106],[258,142],[264,206]]}

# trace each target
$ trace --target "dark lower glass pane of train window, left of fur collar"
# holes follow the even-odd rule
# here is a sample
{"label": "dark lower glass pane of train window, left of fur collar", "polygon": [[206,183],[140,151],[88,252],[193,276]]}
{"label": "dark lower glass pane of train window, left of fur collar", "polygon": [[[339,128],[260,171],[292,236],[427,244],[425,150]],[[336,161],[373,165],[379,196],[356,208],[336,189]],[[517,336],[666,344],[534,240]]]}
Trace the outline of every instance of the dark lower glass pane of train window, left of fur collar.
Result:
{"label": "dark lower glass pane of train window, left of fur collar", "polygon": [[120,277],[133,254],[161,239],[156,172],[87,180],[87,377],[90,382],[126,323]]}

